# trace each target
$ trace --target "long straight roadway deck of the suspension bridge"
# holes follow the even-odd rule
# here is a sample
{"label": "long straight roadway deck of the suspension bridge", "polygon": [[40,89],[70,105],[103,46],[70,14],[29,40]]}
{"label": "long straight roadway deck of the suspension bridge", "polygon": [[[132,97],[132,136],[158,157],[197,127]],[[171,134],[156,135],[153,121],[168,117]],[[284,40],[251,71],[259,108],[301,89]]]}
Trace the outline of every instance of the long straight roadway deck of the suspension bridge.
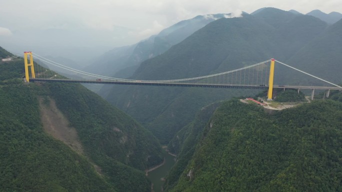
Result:
{"label": "long straight roadway deck of the suspension bridge", "polygon": [[[149,85],[149,86],[174,86],[174,87],[212,87],[235,89],[268,89],[268,85],[231,85],[231,84],[204,84],[204,83],[177,83],[177,82],[152,82],[152,81],[98,81],[98,80],[71,80],[71,79],[39,79],[30,78],[30,82],[62,82],[62,83],[93,83],[93,84],[117,84],[117,85]],[[340,90],[339,87],[299,86],[299,85],[273,85],[273,88],[283,89],[317,89]]]}

